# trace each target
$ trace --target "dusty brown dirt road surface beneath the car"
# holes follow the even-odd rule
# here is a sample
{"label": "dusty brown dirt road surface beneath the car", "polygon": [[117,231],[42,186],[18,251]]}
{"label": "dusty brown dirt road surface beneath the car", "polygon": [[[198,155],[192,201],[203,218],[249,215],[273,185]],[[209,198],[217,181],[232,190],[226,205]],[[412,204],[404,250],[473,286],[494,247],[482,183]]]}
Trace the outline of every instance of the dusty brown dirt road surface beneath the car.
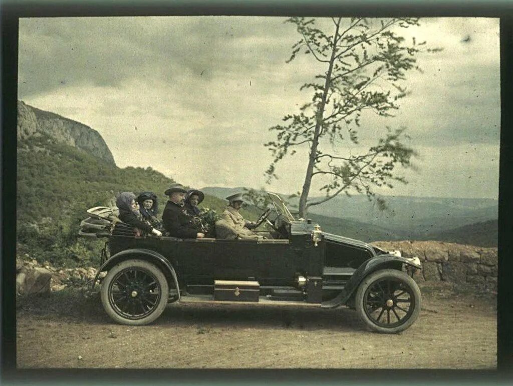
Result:
{"label": "dusty brown dirt road surface beneath the car", "polygon": [[[154,324],[114,324],[99,299],[61,291],[18,300],[19,368],[495,369],[496,297],[422,288],[400,335],[367,331],[356,312],[172,304]],[[80,358],[80,359],[78,359]]]}

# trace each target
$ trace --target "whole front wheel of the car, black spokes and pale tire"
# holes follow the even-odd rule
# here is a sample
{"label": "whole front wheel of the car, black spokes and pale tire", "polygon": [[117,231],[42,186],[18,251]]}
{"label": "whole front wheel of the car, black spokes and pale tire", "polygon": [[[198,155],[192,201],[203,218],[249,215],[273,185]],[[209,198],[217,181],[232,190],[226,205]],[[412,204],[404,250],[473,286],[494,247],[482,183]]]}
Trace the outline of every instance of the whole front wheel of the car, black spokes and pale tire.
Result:
{"label": "whole front wheel of the car, black spokes and pale tire", "polygon": [[421,310],[417,283],[402,271],[386,269],[367,276],[354,299],[360,318],[372,330],[393,334],[406,330]]}

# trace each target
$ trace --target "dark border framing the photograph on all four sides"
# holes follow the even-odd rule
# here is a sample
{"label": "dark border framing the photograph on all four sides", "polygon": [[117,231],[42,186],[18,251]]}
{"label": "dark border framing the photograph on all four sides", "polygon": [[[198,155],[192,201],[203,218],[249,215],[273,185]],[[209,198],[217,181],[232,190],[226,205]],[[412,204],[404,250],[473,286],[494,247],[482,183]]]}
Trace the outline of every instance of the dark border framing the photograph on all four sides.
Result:
{"label": "dark border framing the photograph on all four sides", "polygon": [[[487,383],[511,378],[513,368],[513,3],[510,1],[14,1],[0,4],[2,17],[2,377],[6,384],[260,383]],[[499,162],[498,370],[214,370],[214,369],[16,369],[15,239],[16,112],[19,17],[137,15],[262,16],[466,16],[500,17],[501,147]],[[401,339],[398,336],[398,339]],[[305,348],[307,349],[307,348]],[[9,383],[7,383],[9,382]]]}

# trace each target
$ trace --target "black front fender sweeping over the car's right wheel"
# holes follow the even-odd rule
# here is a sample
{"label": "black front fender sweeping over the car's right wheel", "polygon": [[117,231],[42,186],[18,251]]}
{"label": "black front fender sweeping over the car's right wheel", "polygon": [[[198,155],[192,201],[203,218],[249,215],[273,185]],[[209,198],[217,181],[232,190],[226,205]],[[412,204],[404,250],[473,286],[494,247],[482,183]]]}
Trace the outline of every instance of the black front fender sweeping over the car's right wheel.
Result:
{"label": "black front fender sweeping over the car's right wheel", "polygon": [[352,274],[351,278],[346,282],[344,289],[339,295],[331,300],[324,301],[322,303],[323,308],[334,308],[347,304],[351,297],[356,293],[360,283],[372,272],[376,272],[382,269],[396,269],[401,271],[403,264],[414,267],[416,269],[422,269],[420,261],[417,259],[401,257],[396,255],[379,255],[372,257],[362,263],[360,267]]}

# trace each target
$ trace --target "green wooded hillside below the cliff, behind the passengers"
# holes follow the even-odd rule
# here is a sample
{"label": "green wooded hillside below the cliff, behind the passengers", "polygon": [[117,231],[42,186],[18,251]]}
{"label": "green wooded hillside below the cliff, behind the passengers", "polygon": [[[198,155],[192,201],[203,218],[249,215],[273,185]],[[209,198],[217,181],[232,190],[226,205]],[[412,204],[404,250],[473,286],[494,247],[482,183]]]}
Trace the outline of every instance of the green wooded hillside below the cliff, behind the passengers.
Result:
{"label": "green wooded hillside below the cliff, behind the passengers", "polygon": [[[115,205],[115,196],[153,191],[160,216],[167,201],[164,191],[174,182],[152,168],[117,168],[93,155],[58,143],[45,135],[18,141],[17,249],[56,267],[98,265],[103,239],[78,236],[86,210]],[[226,208],[226,201],[205,196],[208,221]],[[258,214],[245,211],[248,219]]]}

